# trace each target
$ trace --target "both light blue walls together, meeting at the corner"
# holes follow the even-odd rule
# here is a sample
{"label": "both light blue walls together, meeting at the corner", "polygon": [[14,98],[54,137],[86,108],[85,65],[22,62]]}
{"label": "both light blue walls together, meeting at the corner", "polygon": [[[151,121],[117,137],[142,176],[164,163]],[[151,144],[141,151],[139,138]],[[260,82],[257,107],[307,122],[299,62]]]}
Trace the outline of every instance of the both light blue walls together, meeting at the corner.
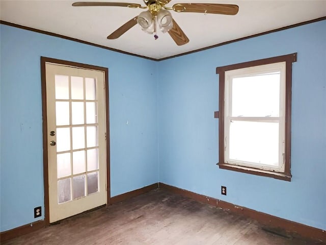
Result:
{"label": "both light blue walls together, meeting at the corner", "polygon": [[[1,231],[44,208],[40,56],[108,67],[112,196],[160,181],[326,230],[326,21],[160,62],[0,27]],[[219,169],[215,68],[295,52],[292,181]]]}

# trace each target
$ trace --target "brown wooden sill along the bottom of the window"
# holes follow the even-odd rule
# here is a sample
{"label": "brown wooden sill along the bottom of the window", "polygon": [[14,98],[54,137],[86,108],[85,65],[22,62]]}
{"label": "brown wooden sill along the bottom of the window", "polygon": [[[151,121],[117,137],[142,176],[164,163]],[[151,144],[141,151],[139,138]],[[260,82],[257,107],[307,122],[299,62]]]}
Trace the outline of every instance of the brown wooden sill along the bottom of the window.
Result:
{"label": "brown wooden sill along the bottom of the window", "polygon": [[270,178],[285,180],[285,181],[291,181],[291,177],[292,177],[291,174],[262,170],[258,168],[252,168],[252,167],[238,166],[238,165],[233,165],[228,163],[218,163],[216,165],[219,165],[219,168],[222,169],[233,170],[233,171],[251,174],[251,175],[265,176],[265,177],[270,177]]}

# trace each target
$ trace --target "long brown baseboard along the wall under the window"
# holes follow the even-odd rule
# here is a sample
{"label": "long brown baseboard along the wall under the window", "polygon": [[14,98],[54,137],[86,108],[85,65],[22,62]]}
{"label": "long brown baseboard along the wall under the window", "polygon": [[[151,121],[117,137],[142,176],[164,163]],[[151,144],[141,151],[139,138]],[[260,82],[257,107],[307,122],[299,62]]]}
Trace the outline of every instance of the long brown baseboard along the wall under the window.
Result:
{"label": "long brown baseboard along the wall under the window", "polygon": [[159,184],[159,188],[161,189],[166,189],[171,192],[183,195],[184,197],[191,198],[193,200],[202,203],[206,203],[223,209],[228,209],[232,212],[254,218],[263,225],[266,225],[270,228],[282,229],[293,236],[311,238],[311,239],[316,239],[316,240],[321,240],[323,242],[326,242],[326,231],[324,230],[317,229],[311,226],[306,226],[284,218],[279,218],[267,213],[258,212],[250,208],[237,206],[232,203],[228,203],[211,197],[206,197],[205,195],[197,194],[195,192],[180,189],[164,183],[158,183],[158,184]]}

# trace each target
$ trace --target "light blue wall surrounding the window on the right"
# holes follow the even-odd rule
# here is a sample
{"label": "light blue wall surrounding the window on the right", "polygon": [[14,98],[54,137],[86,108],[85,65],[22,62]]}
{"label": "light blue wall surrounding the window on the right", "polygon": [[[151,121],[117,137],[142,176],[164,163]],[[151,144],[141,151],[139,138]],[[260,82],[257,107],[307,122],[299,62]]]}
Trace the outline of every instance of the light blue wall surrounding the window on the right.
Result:
{"label": "light blue wall surrounding the window on the right", "polygon": [[[158,76],[160,182],[326,230],[325,30],[320,21],[161,61],[169,72]],[[215,68],[296,52],[292,181],[219,169]]]}

